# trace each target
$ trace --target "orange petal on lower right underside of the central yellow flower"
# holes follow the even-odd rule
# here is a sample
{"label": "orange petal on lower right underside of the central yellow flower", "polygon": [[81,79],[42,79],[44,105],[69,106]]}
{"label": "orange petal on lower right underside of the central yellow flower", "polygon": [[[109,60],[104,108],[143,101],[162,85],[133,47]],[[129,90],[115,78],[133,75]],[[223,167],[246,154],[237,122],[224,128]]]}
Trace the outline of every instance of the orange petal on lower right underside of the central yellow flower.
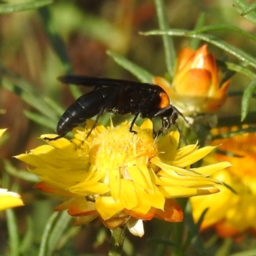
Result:
{"label": "orange petal on lower right underside of the central yellow flower", "polygon": [[183,221],[183,211],[176,201],[167,199],[164,211],[157,210],[155,217],[168,222],[181,222]]}

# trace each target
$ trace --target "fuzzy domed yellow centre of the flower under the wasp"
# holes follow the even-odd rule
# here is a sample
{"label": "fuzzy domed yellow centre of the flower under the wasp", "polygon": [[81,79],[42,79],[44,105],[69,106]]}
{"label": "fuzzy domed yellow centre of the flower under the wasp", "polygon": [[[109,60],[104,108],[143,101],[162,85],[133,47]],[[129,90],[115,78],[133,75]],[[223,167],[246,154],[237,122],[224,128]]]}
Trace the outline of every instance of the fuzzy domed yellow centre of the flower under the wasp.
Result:
{"label": "fuzzy domed yellow centre of the flower under the wasp", "polygon": [[152,131],[133,127],[137,133],[132,133],[129,128],[125,123],[99,133],[90,143],[90,163],[105,170],[147,165],[158,154]]}

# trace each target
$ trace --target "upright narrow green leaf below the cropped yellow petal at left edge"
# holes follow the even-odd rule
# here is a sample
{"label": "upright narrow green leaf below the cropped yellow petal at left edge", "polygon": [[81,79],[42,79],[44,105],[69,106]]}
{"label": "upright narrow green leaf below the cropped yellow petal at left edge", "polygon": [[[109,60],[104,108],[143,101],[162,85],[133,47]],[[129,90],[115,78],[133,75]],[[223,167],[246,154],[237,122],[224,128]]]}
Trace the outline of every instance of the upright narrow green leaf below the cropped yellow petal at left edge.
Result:
{"label": "upright narrow green leaf below the cropped yellow petal at left edge", "polygon": [[5,211],[9,236],[9,255],[19,256],[20,237],[15,212],[12,209]]}

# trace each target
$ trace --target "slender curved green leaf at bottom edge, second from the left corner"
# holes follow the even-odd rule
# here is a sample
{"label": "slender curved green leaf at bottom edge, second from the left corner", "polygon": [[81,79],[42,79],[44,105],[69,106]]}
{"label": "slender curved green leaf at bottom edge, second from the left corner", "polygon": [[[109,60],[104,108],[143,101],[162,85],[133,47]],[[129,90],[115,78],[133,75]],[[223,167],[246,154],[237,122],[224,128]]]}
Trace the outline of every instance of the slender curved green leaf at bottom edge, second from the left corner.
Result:
{"label": "slender curved green leaf at bottom edge, second from the left corner", "polygon": [[50,218],[49,218],[49,220],[48,220],[48,222],[45,226],[42,241],[40,243],[38,256],[50,256],[50,254],[48,253],[48,250],[49,250],[49,247],[48,247],[49,236],[51,235],[51,230],[53,229],[53,226],[55,224],[55,220],[58,217],[58,215],[59,215],[59,212],[54,212],[50,216]]}

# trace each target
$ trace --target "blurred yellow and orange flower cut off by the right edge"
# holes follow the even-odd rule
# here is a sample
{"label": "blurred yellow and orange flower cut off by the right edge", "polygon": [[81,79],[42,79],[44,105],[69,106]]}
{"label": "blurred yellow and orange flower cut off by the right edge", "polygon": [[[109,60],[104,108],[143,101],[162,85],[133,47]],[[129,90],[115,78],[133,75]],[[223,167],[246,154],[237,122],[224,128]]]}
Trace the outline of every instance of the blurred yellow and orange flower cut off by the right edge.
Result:
{"label": "blurred yellow and orange flower cut off by the right edge", "polygon": [[[227,132],[227,129],[224,131]],[[246,230],[255,231],[256,133],[218,139],[212,144],[220,145],[218,149],[228,153],[214,154],[213,160],[228,160],[231,164],[228,170],[218,172],[212,177],[227,184],[236,192],[223,187],[218,195],[192,198],[195,221],[200,218],[201,212],[209,207],[202,229],[213,226],[222,237],[234,236]]]}

